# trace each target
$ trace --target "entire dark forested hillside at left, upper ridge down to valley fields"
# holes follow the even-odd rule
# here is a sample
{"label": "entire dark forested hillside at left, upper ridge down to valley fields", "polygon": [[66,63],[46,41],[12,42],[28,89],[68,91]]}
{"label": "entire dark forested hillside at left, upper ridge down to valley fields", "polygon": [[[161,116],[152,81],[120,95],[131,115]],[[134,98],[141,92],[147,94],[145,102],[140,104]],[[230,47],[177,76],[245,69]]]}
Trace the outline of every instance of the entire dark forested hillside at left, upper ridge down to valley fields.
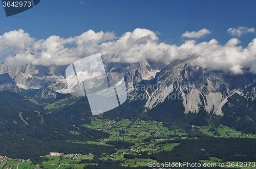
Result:
{"label": "entire dark forested hillside at left, upper ridge down to valley fields", "polygon": [[14,92],[0,92],[0,99],[5,106],[0,106],[1,155],[28,159],[47,155],[50,152],[95,155],[114,152],[114,147],[110,146],[81,146],[67,143],[67,140],[97,141],[109,137],[110,134],[79,126],[42,112],[39,109],[45,106],[44,101],[33,100]]}

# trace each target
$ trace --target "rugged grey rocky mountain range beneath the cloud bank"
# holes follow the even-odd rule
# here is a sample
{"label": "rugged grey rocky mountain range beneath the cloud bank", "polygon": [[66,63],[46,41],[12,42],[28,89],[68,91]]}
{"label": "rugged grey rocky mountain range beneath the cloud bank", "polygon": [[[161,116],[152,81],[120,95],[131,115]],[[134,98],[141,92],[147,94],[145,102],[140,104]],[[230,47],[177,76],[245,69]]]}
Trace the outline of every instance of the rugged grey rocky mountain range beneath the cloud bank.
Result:
{"label": "rugged grey rocky mountain range beneath the cloud bank", "polygon": [[[256,75],[204,69],[194,64],[199,57],[193,54],[168,64],[156,60],[132,64],[112,62],[114,55],[102,55],[106,72],[123,74],[129,98],[103,117],[145,115],[159,121],[188,120],[191,124],[228,124],[243,130],[250,126],[248,130],[254,130]],[[0,90],[36,99],[61,98],[68,93],[67,67],[32,64],[9,67],[2,63]],[[72,111],[72,106],[77,111]],[[86,98],[52,114],[78,124],[88,123],[92,117]]]}

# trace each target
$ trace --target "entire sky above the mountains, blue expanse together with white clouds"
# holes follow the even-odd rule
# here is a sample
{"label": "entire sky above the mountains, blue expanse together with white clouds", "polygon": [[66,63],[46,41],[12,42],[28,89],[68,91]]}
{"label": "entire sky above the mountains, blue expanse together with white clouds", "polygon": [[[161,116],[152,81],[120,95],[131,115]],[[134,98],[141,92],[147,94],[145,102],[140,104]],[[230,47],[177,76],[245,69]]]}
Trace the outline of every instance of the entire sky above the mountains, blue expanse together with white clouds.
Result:
{"label": "entire sky above the mountains, blue expanse together with white clouds", "polygon": [[118,55],[116,62],[168,63],[196,53],[203,68],[256,73],[255,7],[256,1],[41,0],[10,17],[2,7],[0,61],[67,65],[100,52]]}

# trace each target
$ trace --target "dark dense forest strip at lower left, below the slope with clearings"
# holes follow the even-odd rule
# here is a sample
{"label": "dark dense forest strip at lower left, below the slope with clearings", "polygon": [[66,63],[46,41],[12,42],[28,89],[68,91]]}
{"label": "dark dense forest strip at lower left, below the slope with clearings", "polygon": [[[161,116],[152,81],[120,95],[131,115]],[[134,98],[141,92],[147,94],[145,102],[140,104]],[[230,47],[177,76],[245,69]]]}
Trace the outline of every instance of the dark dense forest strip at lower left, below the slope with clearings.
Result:
{"label": "dark dense forest strip at lower left, below the slope with clearings", "polygon": [[50,152],[63,152],[65,154],[95,154],[113,153],[115,147],[101,145],[80,145],[60,141],[46,142],[26,135],[3,133],[0,135],[0,154],[9,158],[39,158]]}

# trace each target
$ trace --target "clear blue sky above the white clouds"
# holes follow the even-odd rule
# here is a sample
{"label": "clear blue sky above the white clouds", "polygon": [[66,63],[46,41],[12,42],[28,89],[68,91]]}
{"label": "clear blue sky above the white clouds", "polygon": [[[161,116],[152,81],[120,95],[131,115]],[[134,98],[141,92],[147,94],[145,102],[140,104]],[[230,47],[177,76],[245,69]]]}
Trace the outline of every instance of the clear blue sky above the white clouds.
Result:
{"label": "clear blue sky above the white clouds", "polygon": [[[83,3],[82,3],[83,2]],[[0,35],[23,29],[31,37],[46,39],[79,36],[93,30],[114,31],[117,36],[136,28],[158,31],[161,41],[179,44],[181,35],[203,28],[212,31],[197,42],[217,39],[225,44],[231,36],[229,27],[256,28],[255,1],[78,1],[42,0],[23,13],[5,17],[0,13]],[[239,37],[247,45],[256,34]]]}

